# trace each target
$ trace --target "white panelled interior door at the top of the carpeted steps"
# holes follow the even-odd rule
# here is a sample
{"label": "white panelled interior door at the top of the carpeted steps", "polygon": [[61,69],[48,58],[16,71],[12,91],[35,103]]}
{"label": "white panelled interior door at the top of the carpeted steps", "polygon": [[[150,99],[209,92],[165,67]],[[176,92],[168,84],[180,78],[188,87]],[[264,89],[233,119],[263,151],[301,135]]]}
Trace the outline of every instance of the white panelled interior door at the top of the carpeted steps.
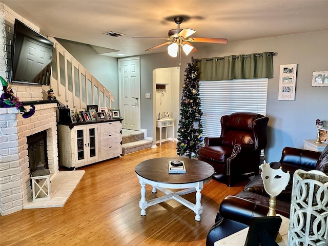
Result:
{"label": "white panelled interior door at the top of the carpeted steps", "polygon": [[122,128],[140,130],[140,58],[118,59]]}

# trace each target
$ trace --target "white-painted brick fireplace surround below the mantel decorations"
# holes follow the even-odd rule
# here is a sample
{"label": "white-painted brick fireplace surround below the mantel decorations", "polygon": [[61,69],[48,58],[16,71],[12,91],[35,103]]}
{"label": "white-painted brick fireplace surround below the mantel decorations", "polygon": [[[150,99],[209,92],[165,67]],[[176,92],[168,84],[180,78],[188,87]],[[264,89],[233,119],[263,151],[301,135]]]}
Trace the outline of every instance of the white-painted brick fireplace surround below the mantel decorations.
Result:
{"label": "white-painted brick fireplace surround below the mantel decorations", "polygon": [[[58,173],[56,104],[35,105],[35,113],[23,118],[16,108],[0,108],[0,212],[24,209],[31,200],[27,137],[47,132],[47,155],[51,177]],[[29,106],[25,106],[29,110]]]}

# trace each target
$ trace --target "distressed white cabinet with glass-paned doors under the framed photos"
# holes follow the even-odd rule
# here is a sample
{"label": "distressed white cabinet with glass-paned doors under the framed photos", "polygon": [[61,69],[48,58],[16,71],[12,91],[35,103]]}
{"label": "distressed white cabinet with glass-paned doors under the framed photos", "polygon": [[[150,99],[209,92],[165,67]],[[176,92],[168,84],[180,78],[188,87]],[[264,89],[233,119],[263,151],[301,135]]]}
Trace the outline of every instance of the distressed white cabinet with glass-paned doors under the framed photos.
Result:
{"label": "distressed white cabinet with glass-paned doors under the framed photos", "polygon": [[121,130],[121,119],[58,124],[60,165],[79,168],[121,156]]}

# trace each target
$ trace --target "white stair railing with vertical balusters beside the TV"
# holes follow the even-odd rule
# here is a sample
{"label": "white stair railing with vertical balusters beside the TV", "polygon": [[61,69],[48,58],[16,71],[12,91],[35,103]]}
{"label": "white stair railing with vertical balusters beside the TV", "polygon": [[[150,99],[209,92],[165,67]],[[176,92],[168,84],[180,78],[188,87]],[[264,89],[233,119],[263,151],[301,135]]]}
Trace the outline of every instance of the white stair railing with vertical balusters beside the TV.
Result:
{"label": "white stair railing with vertical balusters beside the TV", "polygon": [[54,42],[50,88],[61,104],[79,111],[87,105],[111,108],[114,97],[57,40]]}

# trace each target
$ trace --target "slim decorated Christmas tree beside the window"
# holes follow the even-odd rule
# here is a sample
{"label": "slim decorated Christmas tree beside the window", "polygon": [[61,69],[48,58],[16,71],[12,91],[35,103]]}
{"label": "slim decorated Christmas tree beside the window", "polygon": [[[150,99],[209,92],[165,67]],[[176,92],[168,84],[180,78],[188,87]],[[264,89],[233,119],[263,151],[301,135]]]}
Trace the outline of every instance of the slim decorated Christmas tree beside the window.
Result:
{"label": "slim decorated Christmas tree beside the window", "polygon": [[185,70],[185,83],[182,85],[180,108],[180,121],[178,128],[177,154],[189,158],[198,157],[201,146],[202,125],[200,116],[199,76],[198,69],[194,66],[194,57]]}

